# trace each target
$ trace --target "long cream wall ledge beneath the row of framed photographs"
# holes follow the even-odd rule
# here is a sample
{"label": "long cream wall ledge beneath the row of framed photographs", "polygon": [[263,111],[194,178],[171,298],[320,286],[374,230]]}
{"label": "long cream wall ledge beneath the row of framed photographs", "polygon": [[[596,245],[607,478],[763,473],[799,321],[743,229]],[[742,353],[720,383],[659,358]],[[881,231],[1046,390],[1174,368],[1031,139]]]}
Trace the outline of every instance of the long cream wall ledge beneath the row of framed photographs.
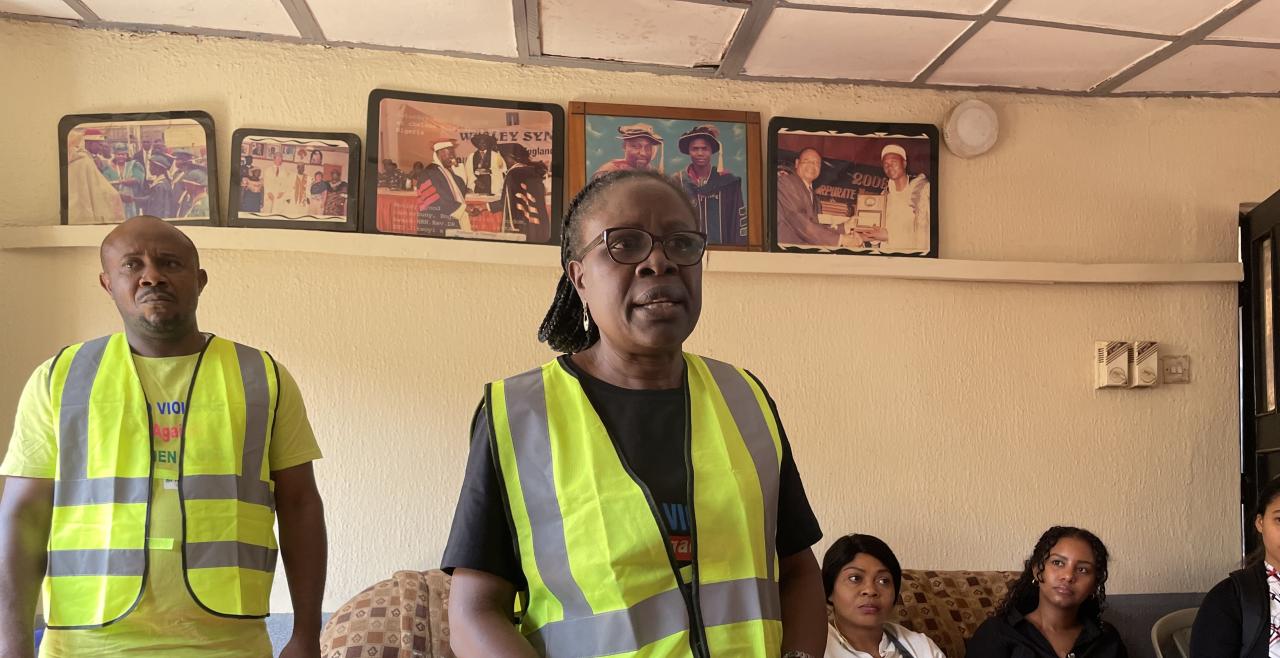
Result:
{"label": "long cream wall ledge beneath the row of framed photographs", "polygon": [[[110,225],[3,227],[0,250],[97,247]],[[559,248],[465,239],[430,239],[323,230],[184,227],[201,250],[329,253],[390,259],[559,268]],[[709,273],[869,277],[988,283],[1178,284],[1238,283],[1239,262],[1076,264],[951,259],[881,259],[818,253],[713,251]]]}

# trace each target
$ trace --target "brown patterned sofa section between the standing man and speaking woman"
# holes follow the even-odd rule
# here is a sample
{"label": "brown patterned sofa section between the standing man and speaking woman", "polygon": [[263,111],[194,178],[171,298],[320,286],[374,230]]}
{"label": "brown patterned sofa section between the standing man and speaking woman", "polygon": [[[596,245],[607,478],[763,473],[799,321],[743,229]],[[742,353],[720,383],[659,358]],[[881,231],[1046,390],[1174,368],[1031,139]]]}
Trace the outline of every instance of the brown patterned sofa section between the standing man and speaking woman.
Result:
{"label": "brown patterned sofa section between the standing man and speaking woman", "polygon": [[453,658],[449,576],[397,571],[343,604],[320,634],[324,658]]}

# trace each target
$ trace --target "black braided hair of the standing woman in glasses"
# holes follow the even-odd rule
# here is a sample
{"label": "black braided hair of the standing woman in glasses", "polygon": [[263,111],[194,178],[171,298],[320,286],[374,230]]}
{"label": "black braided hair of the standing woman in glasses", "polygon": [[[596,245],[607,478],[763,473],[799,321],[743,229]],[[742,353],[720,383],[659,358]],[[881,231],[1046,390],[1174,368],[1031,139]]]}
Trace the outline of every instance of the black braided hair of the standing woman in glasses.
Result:
{"label": "black braided hair of the standing woman in glasses", "polygon": [[600,339],[600,330],[591,323],[591,328],[582,329],[582,300],[577,296],[577,289],[568,280],[568,261],[581,257],[579,253],[586,243],[584,236],[579,233],[579,219],[595,205],[604,192],[617,183],[632,179],[658,181],[680,193],[681,201],[689,209],[691,216],[698,216],[689,195],[675,181],[648,169],[623,169],[609,172],[598,178],[593,178],[568,204],[564,211],[564,221],[561,225],[561,274],[559,283],[556,284],[556,298],[543,324],[538,328],[538,339],[550,346],[552,349],[563,353],[576,353],[595,344]]}

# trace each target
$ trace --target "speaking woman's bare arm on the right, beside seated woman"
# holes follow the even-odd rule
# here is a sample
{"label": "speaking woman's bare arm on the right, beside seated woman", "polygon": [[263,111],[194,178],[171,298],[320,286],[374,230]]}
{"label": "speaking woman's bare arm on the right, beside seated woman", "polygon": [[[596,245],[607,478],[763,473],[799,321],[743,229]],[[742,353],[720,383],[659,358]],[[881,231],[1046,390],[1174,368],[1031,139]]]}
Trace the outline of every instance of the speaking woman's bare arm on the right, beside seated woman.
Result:
{"label": "speaking woman's bare arm on the right, beside seated woman", "polygon": [[820,658],[827,652],[827,600],[818,559],[806,548],[780,563],[782,653],[799,650]]}

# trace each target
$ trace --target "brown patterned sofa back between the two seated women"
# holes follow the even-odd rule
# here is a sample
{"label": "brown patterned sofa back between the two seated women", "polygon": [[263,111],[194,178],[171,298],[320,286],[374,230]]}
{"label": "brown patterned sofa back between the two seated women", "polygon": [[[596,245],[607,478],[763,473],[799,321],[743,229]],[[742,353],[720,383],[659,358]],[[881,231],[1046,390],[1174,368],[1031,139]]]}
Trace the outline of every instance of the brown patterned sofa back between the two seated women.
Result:
{"label": "brown patterned sofa back between the two seated women", "polygon": [[964,641],[996,612],[1018,575],[902,570],[902,603],[892,621],[928,635],[947,658],[964,658]]}

